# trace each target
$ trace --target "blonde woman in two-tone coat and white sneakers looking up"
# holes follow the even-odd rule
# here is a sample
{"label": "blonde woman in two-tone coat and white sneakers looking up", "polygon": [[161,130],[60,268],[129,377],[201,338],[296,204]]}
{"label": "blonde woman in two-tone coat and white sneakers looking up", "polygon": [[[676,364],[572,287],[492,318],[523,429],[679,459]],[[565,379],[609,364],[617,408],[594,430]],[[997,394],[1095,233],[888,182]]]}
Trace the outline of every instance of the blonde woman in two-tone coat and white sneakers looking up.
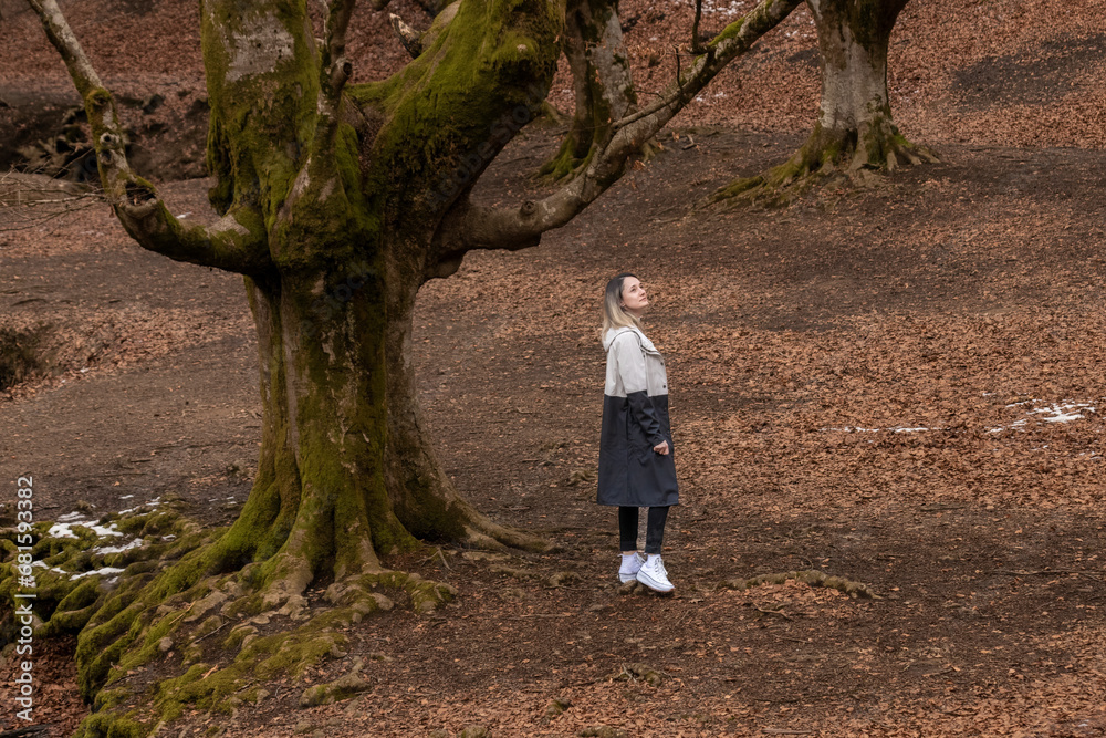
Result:
{"label": "blonde woman in two-tone coat and white sneakers looking up", "polygon": [[[641,332],[649,299],[637,277],[607,282],[603,302],[603,347],[607,381],[599,437],[599,505],[618,506],[623,583],[637,580],[671,592],[660,560],[668,508],[679,502],[672,434],[668,423],[665,360]],[[637,552],[638,508],[649,508],[643,561]]]}

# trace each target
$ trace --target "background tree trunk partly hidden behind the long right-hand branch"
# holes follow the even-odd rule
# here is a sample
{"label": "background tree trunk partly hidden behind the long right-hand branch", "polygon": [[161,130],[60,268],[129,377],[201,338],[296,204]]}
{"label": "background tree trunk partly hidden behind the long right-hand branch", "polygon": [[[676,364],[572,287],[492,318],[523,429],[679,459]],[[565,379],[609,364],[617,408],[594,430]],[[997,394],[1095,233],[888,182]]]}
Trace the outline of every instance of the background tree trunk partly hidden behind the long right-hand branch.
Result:
{"label": "background tree trunk partly hidden behind the long right-hand branch", "polygon": [[572,70],[576,108],[561,149],[541,169],[554,179],[580,167],[593,146],[605,145],[611,124],[637,105],[617,0],[570,0],[562,48]]}

